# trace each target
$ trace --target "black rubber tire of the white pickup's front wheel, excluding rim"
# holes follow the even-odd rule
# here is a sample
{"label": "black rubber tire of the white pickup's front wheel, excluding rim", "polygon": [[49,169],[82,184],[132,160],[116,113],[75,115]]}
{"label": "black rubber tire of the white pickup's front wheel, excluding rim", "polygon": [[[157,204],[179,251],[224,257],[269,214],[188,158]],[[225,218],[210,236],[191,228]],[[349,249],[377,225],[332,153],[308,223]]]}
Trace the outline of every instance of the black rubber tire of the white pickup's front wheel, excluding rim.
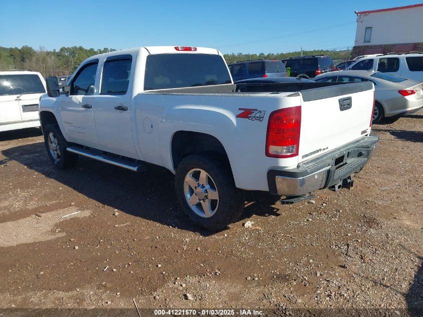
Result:
{"label": "black rubber tire of the white pickup's front wheel, excluding rim", "polygon": [[[51,133],[53,134],[53,137],[55,137],[55,140],[57,140],[56,144],[59,149],[58,157],[55,157],[50,150],[49,138]],[[44,127],[44,144],[46,146],[47,155],[57,168],[70,168],[74,167],[78,163],[79,155],[66,150],[68,142],[65,140],[65,137],[57,124],[48,124]]]}

